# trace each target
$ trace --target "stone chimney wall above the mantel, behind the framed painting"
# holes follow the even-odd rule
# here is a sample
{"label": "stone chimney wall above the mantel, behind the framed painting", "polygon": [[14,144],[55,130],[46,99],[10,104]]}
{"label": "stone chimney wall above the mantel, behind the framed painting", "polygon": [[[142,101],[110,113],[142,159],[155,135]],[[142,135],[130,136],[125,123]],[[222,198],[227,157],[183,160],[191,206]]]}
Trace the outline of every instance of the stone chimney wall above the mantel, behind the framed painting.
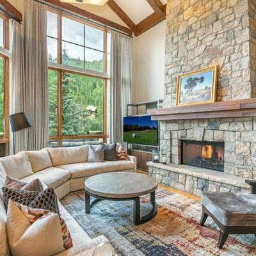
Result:
{"label": "stone chimney wall above the mantel, behind the framed painting", "polygon": [[254,0],[169,0],[166,12],[165,107],[179,74],[214,65],[217,101],[256,95]]}

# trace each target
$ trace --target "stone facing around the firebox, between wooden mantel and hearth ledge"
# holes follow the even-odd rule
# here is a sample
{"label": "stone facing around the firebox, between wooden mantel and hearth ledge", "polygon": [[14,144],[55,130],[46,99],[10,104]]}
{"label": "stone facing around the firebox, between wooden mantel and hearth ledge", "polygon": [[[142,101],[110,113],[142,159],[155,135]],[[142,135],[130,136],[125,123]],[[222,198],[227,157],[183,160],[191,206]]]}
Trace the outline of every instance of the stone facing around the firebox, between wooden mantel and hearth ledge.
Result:
{"label": "stone facing around the firebox, between wooden mantel and hearth ledge", "polygon": [[224,172],[256,179],[256,118],[161,122],[160,130],[168,163],[180,164],[181,140],[225,141]]}

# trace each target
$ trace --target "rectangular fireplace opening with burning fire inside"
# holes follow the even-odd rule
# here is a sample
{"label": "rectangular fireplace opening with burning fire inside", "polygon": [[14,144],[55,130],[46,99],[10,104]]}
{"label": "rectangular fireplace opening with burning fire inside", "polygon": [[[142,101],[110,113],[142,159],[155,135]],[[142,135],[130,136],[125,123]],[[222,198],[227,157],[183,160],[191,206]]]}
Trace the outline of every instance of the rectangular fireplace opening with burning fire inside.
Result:
{"label": "rectangular fireplace opening with burning fire inside", "polygon": [[224,172],[224,142],[182,140],[182,164]]}

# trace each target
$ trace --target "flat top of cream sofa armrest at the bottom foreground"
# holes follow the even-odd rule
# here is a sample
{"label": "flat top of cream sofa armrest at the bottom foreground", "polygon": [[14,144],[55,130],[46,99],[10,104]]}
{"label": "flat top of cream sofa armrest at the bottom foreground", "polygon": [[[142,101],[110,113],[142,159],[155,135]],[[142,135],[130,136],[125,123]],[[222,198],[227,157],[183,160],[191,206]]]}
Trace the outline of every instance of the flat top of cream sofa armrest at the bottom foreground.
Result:
{"label": "flat top of cream sofa armrest at the bottom foreground", "polygon": [[60,252],[55,256],[92,256],[92,253],[95,250],[96,246],[106,242],[108,242],[108,239],[106,239],[106,237],[98,236],[86,243],[74,246],[68,250]]}

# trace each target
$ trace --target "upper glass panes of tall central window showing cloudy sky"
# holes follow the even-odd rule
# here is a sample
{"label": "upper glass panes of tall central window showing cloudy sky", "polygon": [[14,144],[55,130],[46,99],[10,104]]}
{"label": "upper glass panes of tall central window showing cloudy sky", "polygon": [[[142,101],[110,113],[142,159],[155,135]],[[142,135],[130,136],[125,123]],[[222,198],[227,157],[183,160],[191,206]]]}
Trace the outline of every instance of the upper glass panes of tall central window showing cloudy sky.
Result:
{"label": "upper glass panes of tall central window showing cloudy sky", "polygon": [[[62,17],[61,23],[62,54],[65,51],[68,57],[62,60],[63,65],[103,72],[104,31],[67,17]],[[108,33],[108,45],[109,37]],[[52,12],[48,12],[47,44],[49,61],[58,62],[58,15]]]}

